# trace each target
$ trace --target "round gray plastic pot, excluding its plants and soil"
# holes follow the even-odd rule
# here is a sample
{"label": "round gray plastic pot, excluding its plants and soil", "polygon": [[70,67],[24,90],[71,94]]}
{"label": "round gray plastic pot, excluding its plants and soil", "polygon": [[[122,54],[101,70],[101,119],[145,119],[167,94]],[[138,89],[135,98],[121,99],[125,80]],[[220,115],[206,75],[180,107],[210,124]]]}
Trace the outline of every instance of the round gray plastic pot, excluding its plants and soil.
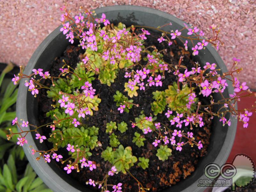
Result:
{"label": "round gray plastic pot, excluding its plants and soil", "polygon": [[[184,26],[184,22],[182,20],[179,20],[170,14],[140,6],[110,6],[96,9],[95,12],[99,16],[101,16],[101,13],[104,12],[111,23],[117,24],[118,22],[123,22],[126,26],[135,24],[157,27],[169,22],[172,22],[172,26],[166,26],[164,30],[181,29]],[[69,42],[65,39],[66,36],[60,32],[60,28],[61,26],[55,29],[38,46],[29,60],[24,74],[31,74],[33,68],[43,68],[44,70],[49,70],[51,68],[52,61],[56,57],[60,56],[64,50],[66,50]],[[191,45],[189,48],[191,50]],[[216,63],[218,68],[221,69],[220,73],[227,72],[227,68],[221,60],[219,54],[210,45],[208,45],[204,51],[199,52],[199,55],[195,57],[195,60],[200,64],[205,64],[205,62]],[[24,83],[25,79],[22,79],[20,82],[19,95],[17,99],[17,116],[18,119],[28,120],[31,124],[38,125],[38,100],[37,98],[34,98],[30,92],[28,92],[27,87],[23,86]],[[233,89],[229,83],[228,88],[223,94],[225,97],[228,97],[228,94],[230,93],[233,93]],[[218,99],[220,99],[220,96],[214,94],[214,100]],[[220,106],[216,106],[216,108],[219,107]],[[198,180],[205,178],[203,174],[204,166],[210,162],[215,162],[220,165],[225,163],[232,148],[236,134],[237,122],[234,117],[230,117],[230,119],[230,127],[223,127],[217,118],[212,120],[212,136],[210,145],[207,148],[207,155],[198,162],[195,172],[193,172],[187,179],[181,180],[176,185],[163,191],[178,192],[204,190],[202,188],[197,188]],[[28,127],[27,130],[29,129],[30,128]],[[35,156],[31,154],[31,148],[29,148],[29,145],[32,145],[36,150],[43,150],[46,148],[46,146],[44,143],[40,144],[38,140],[35,140],[34,132],[29,133],[26,138],[28,140],[28,144],[23,146],[25,154],[38,176],[49,188],[56,192],[91,191],[86,189],[81,183],[78,183],[63,170],[61,170],[54,161],[52,161],[50,164],[44,163],[42,158],[40,161],[36,161]]]}

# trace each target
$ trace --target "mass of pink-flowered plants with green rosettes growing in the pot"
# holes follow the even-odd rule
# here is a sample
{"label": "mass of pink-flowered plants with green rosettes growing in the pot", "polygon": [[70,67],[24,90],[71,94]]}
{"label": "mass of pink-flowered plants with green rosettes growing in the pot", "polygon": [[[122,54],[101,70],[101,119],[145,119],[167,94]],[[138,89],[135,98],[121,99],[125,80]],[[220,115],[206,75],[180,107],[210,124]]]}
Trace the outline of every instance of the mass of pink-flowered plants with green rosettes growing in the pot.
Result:
{"label": "mass of pink-flowered plants with green rosettes growing in the pot", "polygon": [[[128,186],[123,179],[126,175],[137,183],[139,191],[145,192],[149,188],[133,174],[135,167],[147,171],[153,166],[152,156],[161,165],[182,155],[184,148],[191,148],[193,156],[195,151],[198,156],[199,150],[206,153],[210,134],[205,130],[213,117],[219,118],[223,126],[230,126],[229,116],[236,116],[244,128],[248,127],[255,106],[244,111],[235,108],[241,97],[252,96],[246,82],[240,83],[235,77],[242,70],[238,59],[233,58],[232,68],[220,74],[216,63],[186,63],[189,60],[184,54],[176,57],[176,62],[166,56],[167,49],[156,47],[178,46],[180,41],[180,50],[185,52],[189,42],[192,55],[186,57],[191,59],[206,46],[218,49],[223,45],[219,27],[211,27],[212,37],[204,39],[202,30],[186,24],[171,31],[163,29],[171,23],[156,28],[123,23],[114,26],[104,13],[96,15],[84,9],[73,18],[66,7],[61,9],[60,31],[70,44],[76,39],[79,42],[66,53],[78,50],[78,61],[72,64],[61,60],[58,72],[35,68],[25,75],[20,68],[19,76],[12,79],[17,84],[25,78],[25,86],[34,97],[40,97],[42,89],[47,90],[44,97],[51,102],[51,108],[42,114],[45,124],[36,126],[27,119],[15,118],[12,124],[19,132],[10,130],[7,135],[10,139],[18,134],[20,146],[27,144],[29,132],[35,132],[40,143],[51,142],[51,149],[33,149],[36,160],[43,158],[52,163],[54,159],[67,174],[87,170],[86,184],[95,190],[120,192]],[[150,30],[161,35],[150,36]],[[155,44],[149,44],[147,40],[153,38]],[[234,93],[226,98],[223,92],[228,81]],[[213,93],[220,94],[221,99],[214,100]],[[216,105],[223,107],[215,110]],[[30,130],[23,130],[28,127]],[[43,135],[45,132],[49,134]],[[93,178],[87,176],[90,172]],[[104,172],[104,176],[96,177],[95,172]],[[110,184],[112,176],[117,180]]]}

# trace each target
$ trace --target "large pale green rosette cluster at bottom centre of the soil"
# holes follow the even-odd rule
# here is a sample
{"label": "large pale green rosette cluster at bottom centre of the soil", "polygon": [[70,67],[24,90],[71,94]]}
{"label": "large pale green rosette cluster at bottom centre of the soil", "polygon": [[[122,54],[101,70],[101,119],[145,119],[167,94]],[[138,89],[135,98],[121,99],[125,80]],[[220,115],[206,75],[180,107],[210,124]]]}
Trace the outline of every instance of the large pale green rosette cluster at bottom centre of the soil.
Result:
{"label": "large pale green rosette cluster at bottom centre of the soil", "polygon": [[107,160],[115,165],[117,171],[122,171],[124,174],[126,174],[126,170],[129,170],[130,167],[138,161],[137,157],[132,155],[132,148],[124,148],[123,145],[119,145],[115,151],[107,147],[107,149],[102,152],[101,157],[104,158],[105,161]]}

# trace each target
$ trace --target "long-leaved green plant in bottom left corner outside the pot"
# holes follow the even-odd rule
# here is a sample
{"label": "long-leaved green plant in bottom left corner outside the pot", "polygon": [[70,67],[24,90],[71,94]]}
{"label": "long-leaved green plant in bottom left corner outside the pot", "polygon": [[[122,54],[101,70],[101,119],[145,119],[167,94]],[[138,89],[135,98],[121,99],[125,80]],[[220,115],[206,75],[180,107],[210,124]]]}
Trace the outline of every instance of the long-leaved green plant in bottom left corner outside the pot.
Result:
{"label": "long-leaved green plant in bottom left corner outside the pot", "polygon": [[18,174],[12,155],[9,156],[7,164],[0,169],[0,192],[51,192],[44,182],[36,176],[36,173],[27,164],[24,174]]}

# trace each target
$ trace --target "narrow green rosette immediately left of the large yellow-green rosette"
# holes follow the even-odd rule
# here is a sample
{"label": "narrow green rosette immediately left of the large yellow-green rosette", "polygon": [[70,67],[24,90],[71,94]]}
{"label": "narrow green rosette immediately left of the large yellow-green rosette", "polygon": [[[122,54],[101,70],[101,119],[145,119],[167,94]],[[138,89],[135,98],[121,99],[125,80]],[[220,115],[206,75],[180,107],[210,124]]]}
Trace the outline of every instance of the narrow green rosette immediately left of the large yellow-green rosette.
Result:
{"label": "narrow green rosette immediately left of the large yellow-green rosette", "polygon": [[165,92],[163,91],[156,91],[153,92],[153,103],[151,103],[151,110],[154,111],[154,115],[157,115],[158,113],[163,113],[167,103],[165,99]]}

